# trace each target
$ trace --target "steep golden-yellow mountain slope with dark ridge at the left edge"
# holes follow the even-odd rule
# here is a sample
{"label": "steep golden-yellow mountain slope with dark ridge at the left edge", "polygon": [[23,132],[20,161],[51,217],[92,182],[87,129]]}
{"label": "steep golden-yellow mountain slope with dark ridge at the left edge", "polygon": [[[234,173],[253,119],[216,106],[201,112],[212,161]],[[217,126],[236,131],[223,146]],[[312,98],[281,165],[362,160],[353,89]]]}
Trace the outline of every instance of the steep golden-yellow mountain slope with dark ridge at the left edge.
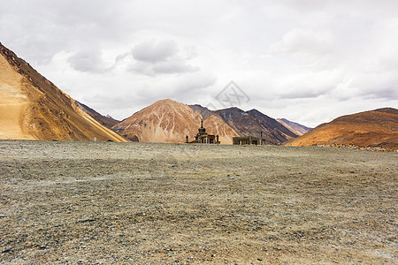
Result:
{"label": "steep golden-yellow mountain slope with dark ridge at the left edge", "polygon": [[0,139],[126,141],[0,43]]}

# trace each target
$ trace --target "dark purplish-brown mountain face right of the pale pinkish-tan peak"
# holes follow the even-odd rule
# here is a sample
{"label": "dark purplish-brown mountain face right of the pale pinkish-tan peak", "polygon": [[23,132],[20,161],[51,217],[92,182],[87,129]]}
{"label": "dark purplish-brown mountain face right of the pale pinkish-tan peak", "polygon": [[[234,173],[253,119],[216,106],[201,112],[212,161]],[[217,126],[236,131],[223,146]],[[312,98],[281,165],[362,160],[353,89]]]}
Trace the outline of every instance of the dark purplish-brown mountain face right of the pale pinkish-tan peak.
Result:
{"label": "dark purplish-brown mountain face right of the pale pinkish-tan peak", "polygon": [[201,113],[203,117],[210,117],[211,115],[220,117],[240,136],[260,137],[263,132],[263,139],[271,144],[278,144],[297,137],[295,133],[281,125],[276,119],[268,117],[258,110],[244,111],[236,107],[224,110],[208,110],[201,105],[190,105],[189,107]]}

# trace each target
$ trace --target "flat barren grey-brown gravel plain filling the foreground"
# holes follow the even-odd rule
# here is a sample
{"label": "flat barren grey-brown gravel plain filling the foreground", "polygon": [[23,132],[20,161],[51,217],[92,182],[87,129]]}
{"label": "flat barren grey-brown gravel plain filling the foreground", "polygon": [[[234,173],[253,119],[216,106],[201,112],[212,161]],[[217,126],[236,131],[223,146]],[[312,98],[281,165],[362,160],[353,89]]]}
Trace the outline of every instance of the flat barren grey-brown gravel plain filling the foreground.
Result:
{"label": "flat barren grey-brown gravel plain filling the foreground", "polygon": [[0,140],[1,264],[398,264],[398,154]]}

